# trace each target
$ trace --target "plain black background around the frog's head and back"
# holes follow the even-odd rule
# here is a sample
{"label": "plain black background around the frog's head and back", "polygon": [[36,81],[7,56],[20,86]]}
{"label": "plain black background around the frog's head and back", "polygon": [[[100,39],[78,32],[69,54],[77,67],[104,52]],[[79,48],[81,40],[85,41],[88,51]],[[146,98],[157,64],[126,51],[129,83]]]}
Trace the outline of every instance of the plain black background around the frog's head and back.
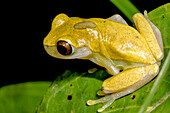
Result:
{"label": "plain black background around the frog's head and back", "polygon": [[[6,3],[1,24],[0,87],[28,81],[53,81],[66,69],[85,72],[95,64],[86,60],[61,60],[49,56],[43,39],[50,31],[53,18],[65,13],[70,17],[108,18],[115,13],[128,20],[109,0],[20,1]],[[131,0],[141,11],[148,12],[167,0]],[[1,4],[3,6],[3,4]],[[129,22],[129,21],[128,21]],[[1,31],[2,32],[2,31]]]}

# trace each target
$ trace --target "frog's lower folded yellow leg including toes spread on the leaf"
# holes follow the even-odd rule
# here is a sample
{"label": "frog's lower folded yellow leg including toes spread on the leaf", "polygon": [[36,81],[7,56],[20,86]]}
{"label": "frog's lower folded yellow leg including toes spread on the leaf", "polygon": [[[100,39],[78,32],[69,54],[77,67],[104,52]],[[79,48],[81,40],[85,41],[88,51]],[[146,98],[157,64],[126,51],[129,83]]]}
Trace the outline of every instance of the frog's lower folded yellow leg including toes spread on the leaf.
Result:
{"label": "frog's lower folded yellow leg including toes spread on the leaf", "polygon": [[105,108],[110,106],[114,100],[132,93],[148,83],[157,75],[158,71],[159,66],[157,64],[122,71],[103,82],[103,91],[99,91],[99,94],[105,94],[105,97],[99,100],[88,100],[87,104],[94,105],[97,103],[104,103],[103,107],[98,109],[98,112],[102,112]]}

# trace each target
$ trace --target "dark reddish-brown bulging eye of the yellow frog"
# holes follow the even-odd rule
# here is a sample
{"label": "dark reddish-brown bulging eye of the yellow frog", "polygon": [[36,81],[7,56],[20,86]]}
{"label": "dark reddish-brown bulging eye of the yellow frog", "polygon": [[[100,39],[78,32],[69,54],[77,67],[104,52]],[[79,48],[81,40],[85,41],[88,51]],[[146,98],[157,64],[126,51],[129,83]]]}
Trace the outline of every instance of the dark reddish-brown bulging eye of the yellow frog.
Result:
{"label": "dark reddish-brown bulging eye of the yellow frog", "polygon": [[57,42],[57,50],[61,55],[70,55],[72,53],[71,45],[64,40]]}

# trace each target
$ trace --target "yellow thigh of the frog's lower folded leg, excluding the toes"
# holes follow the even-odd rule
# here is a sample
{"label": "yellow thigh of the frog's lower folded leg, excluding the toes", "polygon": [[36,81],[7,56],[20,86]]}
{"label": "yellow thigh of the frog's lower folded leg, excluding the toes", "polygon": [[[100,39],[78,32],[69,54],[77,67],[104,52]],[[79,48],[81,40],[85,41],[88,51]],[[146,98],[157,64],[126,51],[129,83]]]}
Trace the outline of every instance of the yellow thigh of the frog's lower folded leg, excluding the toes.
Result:
{"label": "yellow thigh of the frog's lower folded leg, excluding the toes", "polygon": [[152,80],[159,71],[157,64],[136,67],[123,71],[103,82],[104,93],[125,91],[126,94],[135,91]]}

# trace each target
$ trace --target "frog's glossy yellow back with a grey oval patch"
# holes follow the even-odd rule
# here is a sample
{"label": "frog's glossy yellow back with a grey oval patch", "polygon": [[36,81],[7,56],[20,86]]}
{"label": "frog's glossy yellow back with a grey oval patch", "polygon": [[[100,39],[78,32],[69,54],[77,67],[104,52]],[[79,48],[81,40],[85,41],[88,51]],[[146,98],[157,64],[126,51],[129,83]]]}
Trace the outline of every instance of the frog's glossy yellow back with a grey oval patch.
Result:
{"label": "frog's glossy yellow back with a grey oval patch", "polygon": [[68,27],[73,28],[72,34],[79,34],[79,37],[74,38],[85,40],[88,43],[86,46],[92,51],[100,52],[112,60],[148,64],[156,62],[145,38],[133,27],[107,19],[77,17],[72,17],[70,24],[65,25],[74,26]]}

